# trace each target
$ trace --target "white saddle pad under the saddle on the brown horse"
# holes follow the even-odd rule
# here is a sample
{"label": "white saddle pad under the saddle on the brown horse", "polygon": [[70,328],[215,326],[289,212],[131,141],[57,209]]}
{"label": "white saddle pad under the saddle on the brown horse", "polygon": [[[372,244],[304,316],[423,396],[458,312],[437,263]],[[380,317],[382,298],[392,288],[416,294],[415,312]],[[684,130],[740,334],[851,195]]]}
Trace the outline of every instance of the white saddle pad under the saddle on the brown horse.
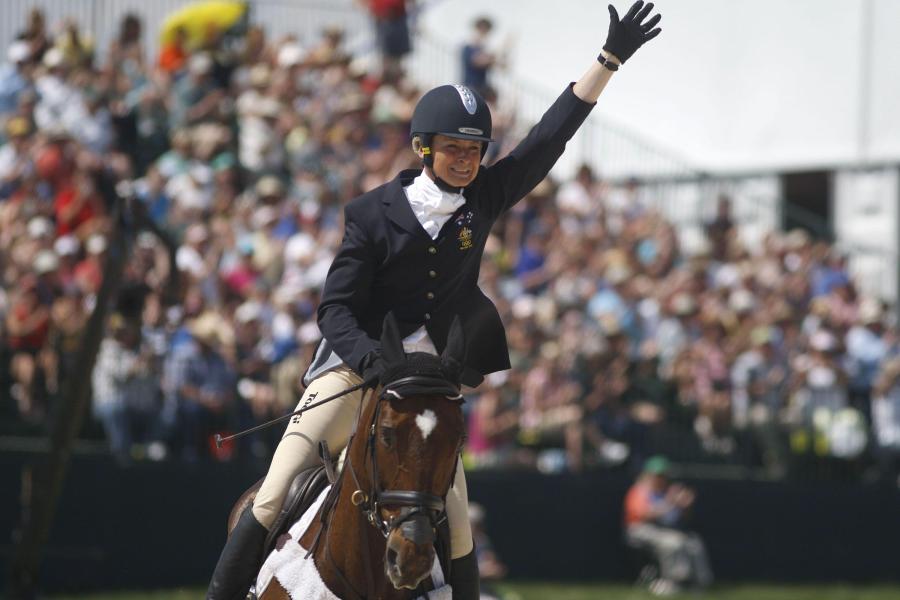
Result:
{"label": "white saddle pad under the saddle on the brown horse", "polygon": [[[329,486],[322,490],[312,506],[291,527],[288,532],[290,538],[281,545],[281,548],[276,548],[263,563],[256,580],[257,594],[265,590],[272,582],[272,578],[275,578],[290,594],[291,600],[340,600],[325,586],[312,557],[305,558],[306,549],[300,545],[300,538],[316,516],[330,489]],[[435,590],[428,592],[429,600],[452,600],[452,590],[444,583],[444,573],[437,558],[431,567],[431,577],[434,580]]]}

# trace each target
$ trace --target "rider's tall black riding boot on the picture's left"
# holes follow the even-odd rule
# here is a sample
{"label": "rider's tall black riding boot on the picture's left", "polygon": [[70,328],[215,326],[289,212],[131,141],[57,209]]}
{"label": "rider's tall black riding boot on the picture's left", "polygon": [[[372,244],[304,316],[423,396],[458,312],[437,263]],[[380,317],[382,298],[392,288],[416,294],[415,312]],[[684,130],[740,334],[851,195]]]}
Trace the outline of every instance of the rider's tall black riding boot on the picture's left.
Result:
{"label": "rider's tall black riding boot on the picture's left", "polygon": [[247,508],[238,519],[222,549],[213,572],[207,600],[244,600],[262,562],[263,545],[268,530]]}

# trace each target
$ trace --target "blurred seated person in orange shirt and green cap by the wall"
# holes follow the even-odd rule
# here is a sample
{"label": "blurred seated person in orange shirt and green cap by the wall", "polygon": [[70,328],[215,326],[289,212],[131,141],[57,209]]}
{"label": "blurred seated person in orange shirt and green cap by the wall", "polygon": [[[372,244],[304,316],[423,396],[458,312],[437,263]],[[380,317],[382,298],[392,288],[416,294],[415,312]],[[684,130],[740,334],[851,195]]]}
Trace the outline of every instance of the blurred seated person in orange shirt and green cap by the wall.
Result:
{"label": "blurred seated person in orange shirt and green cap by the wall", "polygon": [[649,550],[659,563],[660,577],[650,589],[674,594],[683,586],[705,588],[712,571],[703,540],[684,528],[694,503],[692,489],[669,479],[664,456],[653,456],[625,496],[625,540],[629,546]]}

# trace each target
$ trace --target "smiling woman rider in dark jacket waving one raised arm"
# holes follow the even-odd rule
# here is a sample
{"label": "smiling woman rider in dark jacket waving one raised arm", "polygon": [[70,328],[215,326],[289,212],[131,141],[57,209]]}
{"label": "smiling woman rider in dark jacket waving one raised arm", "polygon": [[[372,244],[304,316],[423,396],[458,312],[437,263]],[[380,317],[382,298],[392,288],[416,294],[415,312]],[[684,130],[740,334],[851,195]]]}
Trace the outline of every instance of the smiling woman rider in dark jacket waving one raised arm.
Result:
{"label": "smiling woman rider in dark jacket waving one raised arm", "polygon": [[[638,1],[619,19],[610,5],[604,52],[528,136],[490,167],[481,166],[491,141],[491,114],[481,96],[461,85],[444,85],[422,97],[411,135],[424,168],[401,172],[345,208],[343,242],[318,310],[323,340],[304,377],[300,406],[378,379],[383,370],[378,340],[388,312],[399,322],[407,352],[435,354],[459,315],[466,385],[477,386],[488,373],[509,368],[503,323],[478,288],[491,226],[546,177],[619,65],[659,33],[660,15],[648,19],[652,8]],[[241,516],[222,551],[208,598],[244,598],[291,481],[316,464],[320,440],[336,450],[346,445],[361,398],[362,391],[347,394],[291,420],[252,509]],[[454,599],[479,593],[467,503],[460,463],[446,499]]]}

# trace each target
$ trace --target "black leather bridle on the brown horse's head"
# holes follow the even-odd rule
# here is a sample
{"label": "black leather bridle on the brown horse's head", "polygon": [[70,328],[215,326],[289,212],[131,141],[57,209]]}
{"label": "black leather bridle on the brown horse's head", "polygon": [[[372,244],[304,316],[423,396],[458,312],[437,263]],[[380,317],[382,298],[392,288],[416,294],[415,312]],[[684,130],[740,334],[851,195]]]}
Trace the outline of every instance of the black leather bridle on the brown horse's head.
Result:
{"label": "black leather bridle on the brown horse's head", "polygon": [[[440,377],[425,375],[412,375],[391,381],[382,387],[381,394],[375,399],[375,410],[372,412],[372,421],[369,423],[365,447],[365,456],[371,461],[372,474],[372,485],[368,492],[363,491],[359,478],[353,469],[353,464],[348,461],[347,466],[356,484],[356,491],[350,496],[350,501],[360,509],[369,524],[381,532],[381,535],[385,538],[393,530],[402,527],[403,523],[418,515],[426,516],[434,528],[437,528],[441,521],[447,518],[444,512],[444,499],[441,496],[428,492],[384,490],[381,488],[375,448],[378,417],[381,414],[382,402],[390,398],[403,399],[410,395],[444,396],[448,402],[463,402],[459,386]],[[455,468],[454,466],[454,471]],[[455,475],[455,472],[453,475]],[[453,477],[451,476],[450,482],[452,483],[452,481]],[[400,513],[392,516],[390,519],[385,519],[381,512],[384,506],[401,507]]]}

